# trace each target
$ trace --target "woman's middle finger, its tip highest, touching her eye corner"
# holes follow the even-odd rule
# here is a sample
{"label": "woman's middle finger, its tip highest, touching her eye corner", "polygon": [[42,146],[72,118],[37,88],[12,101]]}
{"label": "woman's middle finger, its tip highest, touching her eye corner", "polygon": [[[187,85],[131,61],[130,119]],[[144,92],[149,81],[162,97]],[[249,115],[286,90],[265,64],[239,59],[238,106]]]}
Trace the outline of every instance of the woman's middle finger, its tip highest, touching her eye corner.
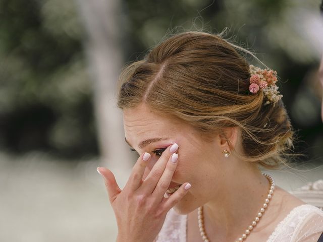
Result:
{"label": "woman's middle finger, its tip highest, touching her eye corner", "polygon": [[145,190],[147,193],[152,193],[155,189],[158,180],[160,179],[161,175],[163,175],[166,164],[170,159],[171,155],[178,150],[178,144],[173,144],[163,152],[163,154],[159,157],[155,165],[152,167],[151,171],[144,179],[142,183],[142,189]]}

